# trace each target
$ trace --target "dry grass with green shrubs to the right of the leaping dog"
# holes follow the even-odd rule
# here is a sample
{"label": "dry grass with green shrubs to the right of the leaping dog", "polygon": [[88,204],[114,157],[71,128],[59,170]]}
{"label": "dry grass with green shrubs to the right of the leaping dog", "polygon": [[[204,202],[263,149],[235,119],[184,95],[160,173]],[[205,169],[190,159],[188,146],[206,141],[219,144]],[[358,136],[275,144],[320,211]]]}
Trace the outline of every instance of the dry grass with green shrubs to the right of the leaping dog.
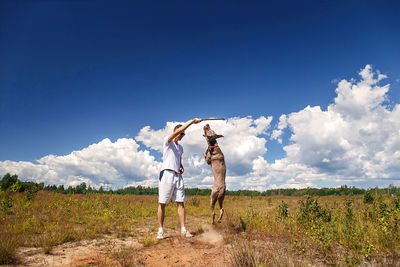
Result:
{"label": "dry grass with green shrubs to the right of the leaping dog", "polygon": [[400,263],[400,211],[391,196],[371,204],[362,196],[232,197],[226,203],[234,205],[223,222],[233,266]]}

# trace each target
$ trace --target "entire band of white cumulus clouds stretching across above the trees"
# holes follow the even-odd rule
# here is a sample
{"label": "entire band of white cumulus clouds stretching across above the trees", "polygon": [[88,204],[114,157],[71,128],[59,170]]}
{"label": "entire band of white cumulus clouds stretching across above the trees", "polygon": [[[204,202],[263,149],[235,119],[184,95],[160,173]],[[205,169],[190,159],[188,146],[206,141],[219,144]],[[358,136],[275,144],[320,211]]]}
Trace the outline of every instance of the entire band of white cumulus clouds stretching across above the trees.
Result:
{"label": "entire band of white cumulus clouds stretching across above the trees", "polygon": [[[367,65],[360,78],[337,81],[336,97],[326,110],[307,106],[272,117],[235,117],[210,122],[224,135],[228,189],[304,188],[384,185],[400,178],[400,105],[386,105],[386,76]],[[162,140],[176,124],[143,127],[135,138],[104,139],[69,155],[48,155],[36,162],[0,162],[0,175],[16,173],[47,184],[111,184],[157,186]],[[207,144],[205,123],[192,125],[182,140],[187,187],[211,188],[213,174],[202,156]],[[282,145],[286,156],[265,159],[269,140]],[[285,142],[283,142],[285,141]],[[142,148],[142,149],[141,149]],[[379,182],[378,182],[379,181]]]}

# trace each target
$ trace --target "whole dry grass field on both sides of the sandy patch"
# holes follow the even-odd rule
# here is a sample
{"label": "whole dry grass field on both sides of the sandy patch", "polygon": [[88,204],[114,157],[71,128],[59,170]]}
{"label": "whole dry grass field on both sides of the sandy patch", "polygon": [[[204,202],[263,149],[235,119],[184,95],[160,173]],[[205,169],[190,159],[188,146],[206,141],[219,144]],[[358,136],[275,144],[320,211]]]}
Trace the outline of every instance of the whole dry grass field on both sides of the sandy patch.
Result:
{"label": "whole dry grass field on both sides of the sandy patch", "polygon": [[[244,197],[225,199],[218,229],[228,266],[400,264],[400,198],[392,195]],[[209,197],[188,197],[188,226],[210,221]],[[0,264],[18,263],[19,247],[45,253],[59,244],[103,235],[135,237],[149,223],[156,231],[156,196],[64,195],[0,192]],[[177,227],[168,205],[166,227]],[[196,219],[196,220],[193,220]]]}

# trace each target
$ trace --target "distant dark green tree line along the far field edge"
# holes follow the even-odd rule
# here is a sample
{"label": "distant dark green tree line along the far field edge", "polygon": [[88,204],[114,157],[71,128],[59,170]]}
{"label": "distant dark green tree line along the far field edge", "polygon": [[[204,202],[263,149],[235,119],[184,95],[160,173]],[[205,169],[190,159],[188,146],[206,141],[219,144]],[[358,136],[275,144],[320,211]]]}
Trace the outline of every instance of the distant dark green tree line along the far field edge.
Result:
{"label": "distant dark green tree line along the far field edge", "polygon": [[[9,173],[5,174],[0,180],[0,189],[2,191],[11,192],[37,192],[40,190],[52,191],[61,194],[117,194],[117,195],[157,195],[157,187],[144,187],[144,186],[128,186],[121,189],[108,189],[100,186],[95,188],[88,186],[86,183],[81,183],[76,186],[64,185],[45,185],[44,183],[35,182],[23,182],[18,179],[17,175],[11,175]],[[400,195],[400,187],[394,185],[389,185],[387,188],[369,188],[362,189],[354,186],[342,185],[337,188],[286,188],[286,189],[268,189],[265,191],[255,191],[255,190],[227,190],[226,195],[228,196],[352,196],[352,195],[362,195],[368,191],[374,190],[377,193],[383,194],[394,194]],[[201,188],[186,188],[185,192],[189,196],[208,196],[211,194],[211,189],[201,189]]]}

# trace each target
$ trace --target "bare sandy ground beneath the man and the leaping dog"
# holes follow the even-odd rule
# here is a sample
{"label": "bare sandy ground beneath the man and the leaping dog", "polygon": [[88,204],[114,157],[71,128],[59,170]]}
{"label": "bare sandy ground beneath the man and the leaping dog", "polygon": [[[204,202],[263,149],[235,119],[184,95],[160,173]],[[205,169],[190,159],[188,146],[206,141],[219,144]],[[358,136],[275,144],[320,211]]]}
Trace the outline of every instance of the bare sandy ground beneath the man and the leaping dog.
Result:
{"label": "bare sandy ground beneath the man and the leaping dog", "polygon": [[[223,235],[211,225],[201,233],[182,238],[175,231],[163,240],[151,235],[144,246],[137,238],[107,236],[98,240],[65,243],[50,254],[41,248],[20,248],[18,266],[224,266]],[[146,234],[146,233],[144,233]]]}

